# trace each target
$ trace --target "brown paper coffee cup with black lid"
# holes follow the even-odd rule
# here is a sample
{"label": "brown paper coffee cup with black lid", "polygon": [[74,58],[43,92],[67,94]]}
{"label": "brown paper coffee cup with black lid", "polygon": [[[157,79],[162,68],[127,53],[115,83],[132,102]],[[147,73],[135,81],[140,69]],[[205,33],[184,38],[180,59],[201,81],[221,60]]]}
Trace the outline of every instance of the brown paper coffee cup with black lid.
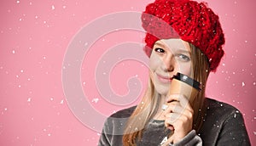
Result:
{"label": "brown paper coffee cup with black lid", "polygon": [[177,73],[172,77],[172,83],[169,94],[183,94],[189,99],[189,102],[194,101],[195,96],[201,91],[201,84],[198,81],[185,76],[182,73]]}

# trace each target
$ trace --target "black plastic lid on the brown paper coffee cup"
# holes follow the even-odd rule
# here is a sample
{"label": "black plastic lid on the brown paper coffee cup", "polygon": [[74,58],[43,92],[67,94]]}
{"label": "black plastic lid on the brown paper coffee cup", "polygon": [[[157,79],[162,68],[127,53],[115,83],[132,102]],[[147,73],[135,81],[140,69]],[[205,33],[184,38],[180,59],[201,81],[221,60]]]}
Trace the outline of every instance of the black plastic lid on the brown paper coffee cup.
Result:
{"label": "black plastic lid on the brown paper coffee cup", "polygon": [[187,83],[191,87],[195,87],[195,89],[201,91],[201,83],[198,81],[195,81],[189,76],[183,75],[182,73],[177,73],[177,75],[172,76],[172,79],[177,79],[178,81],[183,81]]}

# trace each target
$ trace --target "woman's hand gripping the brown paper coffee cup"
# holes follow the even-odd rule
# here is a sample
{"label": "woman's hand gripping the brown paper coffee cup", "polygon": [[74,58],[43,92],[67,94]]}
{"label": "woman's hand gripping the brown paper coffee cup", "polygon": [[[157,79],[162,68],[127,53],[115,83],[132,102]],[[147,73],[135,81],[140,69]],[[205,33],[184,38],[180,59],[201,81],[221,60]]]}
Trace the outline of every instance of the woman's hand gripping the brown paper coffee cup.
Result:
{"label": "woman's hand gripping the brown paper coffee cup", "polygon": [[166,103],[165,126],[174,132],[173,143],[177,143],[192,130],[194,110],[189,100],[180,94],[170,95]]}

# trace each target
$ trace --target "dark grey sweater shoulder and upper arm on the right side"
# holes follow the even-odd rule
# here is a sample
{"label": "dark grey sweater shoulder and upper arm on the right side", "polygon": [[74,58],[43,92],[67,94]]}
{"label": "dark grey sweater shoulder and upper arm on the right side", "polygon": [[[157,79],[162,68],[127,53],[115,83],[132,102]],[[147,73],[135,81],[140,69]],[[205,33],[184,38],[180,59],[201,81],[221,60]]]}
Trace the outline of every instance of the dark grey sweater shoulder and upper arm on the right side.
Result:
{"label": "dark grey sweater shoulder and upper arm on the right side", "polygon": [[207,111],[199,132],[204,145],[250,145],[239,110],[212,98],[206,98],[205,101]]}

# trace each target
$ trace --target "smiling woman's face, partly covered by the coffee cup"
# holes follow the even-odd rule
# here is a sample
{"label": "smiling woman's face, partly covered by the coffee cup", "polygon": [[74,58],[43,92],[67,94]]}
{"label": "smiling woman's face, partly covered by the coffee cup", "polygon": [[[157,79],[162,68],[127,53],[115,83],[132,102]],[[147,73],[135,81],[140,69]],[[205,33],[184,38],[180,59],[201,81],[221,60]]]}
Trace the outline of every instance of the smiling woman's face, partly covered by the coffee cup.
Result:
{"label": "smiling woman's face, partly covered by the coffee cup", "polygon": [[191,48],[181,39],[161,39],[154,43],[150,56],[150,78],[160,95],[168,93],[172,76],[177,72],[190,76]]}

